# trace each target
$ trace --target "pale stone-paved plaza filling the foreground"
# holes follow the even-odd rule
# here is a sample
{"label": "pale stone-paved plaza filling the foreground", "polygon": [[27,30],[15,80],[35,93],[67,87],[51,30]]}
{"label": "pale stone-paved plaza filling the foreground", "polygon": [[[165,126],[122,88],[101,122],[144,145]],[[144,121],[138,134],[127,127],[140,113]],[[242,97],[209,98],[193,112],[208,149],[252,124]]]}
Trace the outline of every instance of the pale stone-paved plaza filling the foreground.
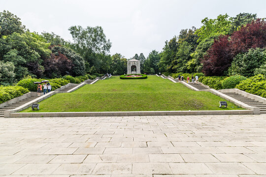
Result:
{"label": "pale stone-paved plaza filling the foreground", "polygon": [[1,118],[0,177],[266,177],[266,115]]}

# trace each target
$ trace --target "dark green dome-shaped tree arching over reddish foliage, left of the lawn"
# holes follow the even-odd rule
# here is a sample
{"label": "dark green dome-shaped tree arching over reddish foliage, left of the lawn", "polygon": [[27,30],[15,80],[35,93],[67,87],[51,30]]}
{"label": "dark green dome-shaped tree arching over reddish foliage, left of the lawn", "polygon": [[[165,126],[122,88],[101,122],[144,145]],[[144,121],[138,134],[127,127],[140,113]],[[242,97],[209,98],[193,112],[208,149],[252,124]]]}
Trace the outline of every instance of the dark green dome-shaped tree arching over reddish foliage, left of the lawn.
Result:
{"label": "dark green dome-shaped tree arching over reddish foliage, left of the lawn", "polygon": [[[64,69],[64,71],[71,67],[71,69],[68,70],[68,72],[71,75],[81,76],[85,74],[84,59],[79,54],[77,54],[76,52],[74,52],[73,50],[65,46],[53,46],[51,50],[55,56],[59,56],[59,58],[64,58],[63,59],[64,62],[68,64],[68,66]],[[60,54],[63,54],[64,56],[66,56],[66,58],[70,59],[72,63],[70,63],[70,61],[68,61],[64,56],[61,56]]]}

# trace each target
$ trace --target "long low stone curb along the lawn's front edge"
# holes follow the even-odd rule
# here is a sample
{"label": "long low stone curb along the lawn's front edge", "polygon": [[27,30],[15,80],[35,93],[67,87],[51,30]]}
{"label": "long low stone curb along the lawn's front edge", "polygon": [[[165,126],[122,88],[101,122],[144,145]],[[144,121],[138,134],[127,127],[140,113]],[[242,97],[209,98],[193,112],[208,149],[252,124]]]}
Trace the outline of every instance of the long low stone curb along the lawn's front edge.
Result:
{"label": "long low stone curb along the lawn's front edge", "polygon": [[252,115],[251,110],[226,111],[132,111],[132,112],[54,112],[12,113],[10,118],[46,117],[111,117],[111,116],[187,116],[187,115]]}

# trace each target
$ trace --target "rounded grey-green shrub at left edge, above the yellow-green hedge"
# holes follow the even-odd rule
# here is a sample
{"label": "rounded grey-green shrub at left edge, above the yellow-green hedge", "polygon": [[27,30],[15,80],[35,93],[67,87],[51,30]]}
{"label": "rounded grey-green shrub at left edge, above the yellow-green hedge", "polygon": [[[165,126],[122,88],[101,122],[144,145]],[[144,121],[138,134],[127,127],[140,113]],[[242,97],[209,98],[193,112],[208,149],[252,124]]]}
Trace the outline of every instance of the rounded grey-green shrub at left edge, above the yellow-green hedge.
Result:
{"label": "rounded grey-green shrub at left edge, above the yellow-green hedge", "polygon": [[13,62],[3,62],[0,60],[0,85],[9,85],[14,82],[14,69]]}

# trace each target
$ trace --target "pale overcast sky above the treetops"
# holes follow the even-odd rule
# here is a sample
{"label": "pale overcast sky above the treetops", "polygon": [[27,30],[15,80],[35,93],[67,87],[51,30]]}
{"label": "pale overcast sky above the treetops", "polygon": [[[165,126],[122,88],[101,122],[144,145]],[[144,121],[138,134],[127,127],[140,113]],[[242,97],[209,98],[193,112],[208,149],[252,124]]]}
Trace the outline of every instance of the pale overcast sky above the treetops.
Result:
{"label": "pale overcast sky above the treetops", "polygon": [[0,0],[3,10],[31,31],[54,32],[70,41],[71,26],[101,26],[112,42],[110,54],[129,59],[161,52],[166,40],[181,29],[200,28],[205,17],[247,12],[266,18],[266,0]]}

